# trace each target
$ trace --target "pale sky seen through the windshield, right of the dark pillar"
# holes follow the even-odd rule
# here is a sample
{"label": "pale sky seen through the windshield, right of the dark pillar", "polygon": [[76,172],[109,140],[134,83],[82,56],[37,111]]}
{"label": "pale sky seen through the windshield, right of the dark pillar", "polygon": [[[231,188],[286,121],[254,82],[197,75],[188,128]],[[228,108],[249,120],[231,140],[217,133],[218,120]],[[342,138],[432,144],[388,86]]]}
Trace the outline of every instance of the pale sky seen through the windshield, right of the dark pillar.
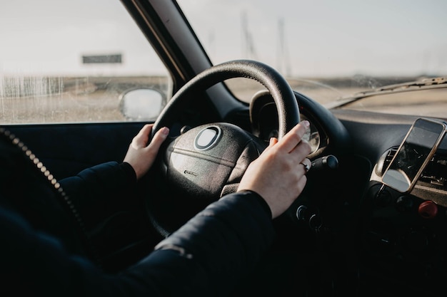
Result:
{"label": "pale sky seen through the windshield, right of the dark pillar", "polygon": [[[243,53],[243,47],[238,46],[244,42],[243,34],[233,38],[229,34],[248,30],[257,58],[279,67],[278,43],[282,44],[296,75],[446,74],[445,0],[181,0],[179,3],[202,42],[211,49],[211,56],[223,61],[237,51]],[[225,21],[216,22],[216,15]],[[280,21],[285,36],[282,43]],[[233,41],[232,48],[226,43],[228,40]]]}

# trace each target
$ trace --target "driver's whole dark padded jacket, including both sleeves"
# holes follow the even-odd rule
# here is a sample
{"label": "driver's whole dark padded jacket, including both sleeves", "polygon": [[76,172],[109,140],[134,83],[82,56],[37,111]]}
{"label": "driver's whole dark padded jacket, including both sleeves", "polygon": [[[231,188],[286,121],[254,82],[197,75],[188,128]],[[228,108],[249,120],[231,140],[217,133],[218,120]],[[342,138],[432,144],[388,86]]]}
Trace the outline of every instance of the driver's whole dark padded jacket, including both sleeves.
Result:
{"label": "driver's whole dark padded jacket, including both sleeves", "polygon": [[[22,173],[19,169],[14,174]],[[66,191],[76,185],[96,195],[109,179],[134,184],[132,174],[127,165],[106,163],[74,177],[65,184]],[[15,178],[6,182],[14,183]],[[31,187],[27,184],[21,182]],[[0,296],[226,296],[273,240],[266,202],[253,192],[229,194],[137,264],[120,273],[104,273],[66,249],[57,234],[46,232],[45,224],[54,222],[29,222],[20,207],[5,199],[14,194],[0,191]],[[64,230],[60,233],[64,236]]]}

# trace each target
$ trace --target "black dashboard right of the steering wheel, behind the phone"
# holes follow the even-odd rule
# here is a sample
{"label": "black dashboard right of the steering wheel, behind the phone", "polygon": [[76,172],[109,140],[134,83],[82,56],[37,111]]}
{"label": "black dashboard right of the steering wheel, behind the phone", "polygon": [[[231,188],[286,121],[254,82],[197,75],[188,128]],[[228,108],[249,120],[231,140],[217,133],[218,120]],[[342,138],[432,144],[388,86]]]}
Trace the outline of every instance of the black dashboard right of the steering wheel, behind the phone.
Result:
{"label": "black dashboard right of the steering wheel, behind the phone", "polygon": [[[318,172],[318,178],[309,176],[305,191],[288,210],[288,218],[298,229],[296,233],[301,234],[297,249],[304,236],[311,236],[315,249],[343,255],[341,259],[353,267],[358,281],[378,291],[396,288],[396,296],[418,288],[426,289],[428,295],[443,291],[447,276],[447,137],[411,192],[398,192],[382,182],[397,146],[381,147],[382,155],[374,150],[371,155],[368,150],[362,151],[363,155],[344,153],[355,150],[353,142],[362,147],[365,131],[373,131],[368,140],[378,142],[373,137],[392,134],[393,130],[377,125],[363,131],[358,121],[348,118],[343,120],[343,127],[361,131],[350,134],[353,142],[349,142],[343,127],[332,130],[337,120],[328,121],[330,114],[306,100],[306,96],[296,96],[301,120],[311,124],[306,133],[312,147],[308,157],[313,160],[330,152],[341,161],[335,172]],[[337,115],[343,119],[343,113]],[[257,137],[268,142],[270,137],[278,136],[278,112],[268,93],[254,96],[250,117]],[[364,145],[368,148],[368,142]],[[355,253],[349,250],[353,246]]]}

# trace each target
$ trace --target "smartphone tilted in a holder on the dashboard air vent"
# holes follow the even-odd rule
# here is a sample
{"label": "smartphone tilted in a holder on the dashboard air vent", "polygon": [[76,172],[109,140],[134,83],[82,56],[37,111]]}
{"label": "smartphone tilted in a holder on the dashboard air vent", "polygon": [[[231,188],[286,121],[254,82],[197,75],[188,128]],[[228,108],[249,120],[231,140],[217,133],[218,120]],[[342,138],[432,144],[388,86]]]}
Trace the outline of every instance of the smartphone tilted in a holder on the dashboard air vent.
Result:
{"label": "smartphone tilted in a holder on the dashboard air vent", "polygon": [[447,131],[446,123],[418,118],[383,173],[382,182],[399,192],[410,192],[430,162]]}

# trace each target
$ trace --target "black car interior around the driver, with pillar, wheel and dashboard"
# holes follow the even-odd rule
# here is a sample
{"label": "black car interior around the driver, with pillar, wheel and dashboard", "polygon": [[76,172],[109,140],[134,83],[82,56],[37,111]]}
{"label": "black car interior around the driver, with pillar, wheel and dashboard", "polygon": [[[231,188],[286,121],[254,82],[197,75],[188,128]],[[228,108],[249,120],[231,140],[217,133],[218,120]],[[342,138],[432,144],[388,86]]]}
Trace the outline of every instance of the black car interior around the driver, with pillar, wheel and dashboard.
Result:
{"label": "black car interior around the driver, with pillar, wheel and dashboard", "polygon": [[[271,137],[281,139],[308,120],[312,167],[306,187],[273,221],[276,239],[271,250],[234,296],[445,296],[446,93],[439,95],[436,115],[378,113],[366,105],[345,108],[360,104],[358,98],[328,106],[293,88],[262,59],[212,63],[181,1],[116,2],[136,25],[133,30],[142,42],[154,49],[166,69],[167,83],[140,75],[113,85],[113,78],[99,75],[98,81],[104,81],[69,77],[47,83],[46,88],[63,85],[61,93],[82,96],[121,94],[113,98],[121,108],[116,113],[124,114],[121,119],[101,120],[99,114],[105,110],[91,105],[98,113],[89,115],[93,120],[27,121],[26,115],[14,112],[20,103],[10,102],[6,91],[13,80],[4,75],[0,85],[2,134],[26,145],[56,179],[102,162],[122,162],[145,123],[154,123],[154,130],[170,127],[156,165],[129,193],[141,203],[123,202],[120,214],[105,219],[102,229],[86,232],[96,249],[93,261],[108,272],[134,264],[207,204],[234,192],[246,166]],[[231,81],[236,80],[256,85],[253,92],[249,89],[249,103],[233,91]],[[94,90],[88,89],[95,84]],[[427,86],[441,92],[447,83],[433,78],[421,85],[395,85],[390,90],[398,88],[405,97]],[[152,103],[142,100],[138,105],[135,90]],[[21,100],[30,97],[22,95]],[[154,101],[157,111],[139,118]],[[28,110],[39,104],[56,110],[58,102],[39,99]],[[66,108],[64,116],[76,118],[72,113],[81,102],[86,101],[71,100],[73,107]],[[13,115],[14,121],[6,120]],[[200,150],[195,140],[204,130],[221,133],[219,145]],[[247,149],[247,141],[253,147]]]}

